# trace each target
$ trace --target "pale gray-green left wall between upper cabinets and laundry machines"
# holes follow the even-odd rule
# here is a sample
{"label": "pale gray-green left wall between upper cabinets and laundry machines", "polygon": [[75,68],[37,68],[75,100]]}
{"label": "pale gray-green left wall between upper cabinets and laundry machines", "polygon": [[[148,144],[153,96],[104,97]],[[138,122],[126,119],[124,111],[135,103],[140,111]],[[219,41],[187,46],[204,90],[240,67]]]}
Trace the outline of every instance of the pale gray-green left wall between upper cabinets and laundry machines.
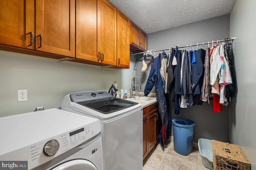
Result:
{"label": "pale gray-green left wall between upper cabinets and laundry machines", "polygon": [[[38,106],[60,108],[67,94],[108,91],[114,82],[119,91],[130,90],[133,67],[134,57],[130,69],[114,70],[0,51],[0,117],[34,111]],[[28,89],[28,101],[17,102],[18,89]]]}

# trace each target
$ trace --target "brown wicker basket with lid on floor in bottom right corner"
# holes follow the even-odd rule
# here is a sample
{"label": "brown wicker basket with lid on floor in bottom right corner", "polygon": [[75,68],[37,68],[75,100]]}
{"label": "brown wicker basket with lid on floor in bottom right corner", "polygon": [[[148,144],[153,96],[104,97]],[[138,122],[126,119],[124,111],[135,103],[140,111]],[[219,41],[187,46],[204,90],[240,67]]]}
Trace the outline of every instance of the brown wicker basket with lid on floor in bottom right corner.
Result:
{"label": "brown wicker basket with lid on floor in bottom right corner", "polygon": [[251,164],[238,145],[212,140],[214,170],[250,170]]}

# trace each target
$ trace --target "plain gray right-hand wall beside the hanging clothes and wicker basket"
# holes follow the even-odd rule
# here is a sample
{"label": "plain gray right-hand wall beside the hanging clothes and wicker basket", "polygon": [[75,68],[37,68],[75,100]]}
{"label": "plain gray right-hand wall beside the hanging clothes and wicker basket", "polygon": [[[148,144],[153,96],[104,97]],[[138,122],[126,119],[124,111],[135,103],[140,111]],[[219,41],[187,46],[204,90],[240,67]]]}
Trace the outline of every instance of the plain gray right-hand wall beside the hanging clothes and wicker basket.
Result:
{"label": "plain gray right-hand wall beside the hanging clothes and wicker basket", "polygon": [[240,145],[256,170],[256,1],[236,0],[230,15],[237,95],[230,105],[230,143]]}

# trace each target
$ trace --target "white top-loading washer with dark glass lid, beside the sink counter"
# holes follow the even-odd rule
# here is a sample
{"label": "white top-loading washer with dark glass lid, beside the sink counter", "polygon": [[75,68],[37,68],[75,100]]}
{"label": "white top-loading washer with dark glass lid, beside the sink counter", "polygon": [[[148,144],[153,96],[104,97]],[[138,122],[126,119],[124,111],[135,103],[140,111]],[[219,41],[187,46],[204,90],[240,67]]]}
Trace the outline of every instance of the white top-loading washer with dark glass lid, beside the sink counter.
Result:
{"label": "white top-loading washer with dark glass lid, beside the sink counter", "polygon": [[108,92],[81,92],[64,97],[61,109],[100,121],[104,170],[142,170],[142,105]]}

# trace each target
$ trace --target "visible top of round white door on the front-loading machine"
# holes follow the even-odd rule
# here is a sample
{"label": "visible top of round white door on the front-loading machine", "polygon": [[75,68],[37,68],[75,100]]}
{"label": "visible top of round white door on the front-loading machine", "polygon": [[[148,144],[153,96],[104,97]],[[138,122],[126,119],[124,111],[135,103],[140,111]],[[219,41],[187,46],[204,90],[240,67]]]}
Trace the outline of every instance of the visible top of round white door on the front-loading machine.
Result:
{"label": "visible top of round white door on the front-loading machine", "polygon": [[51,170],[97,170],[97,168],[92,162],[88,160],[76,159],[57,165]]}

